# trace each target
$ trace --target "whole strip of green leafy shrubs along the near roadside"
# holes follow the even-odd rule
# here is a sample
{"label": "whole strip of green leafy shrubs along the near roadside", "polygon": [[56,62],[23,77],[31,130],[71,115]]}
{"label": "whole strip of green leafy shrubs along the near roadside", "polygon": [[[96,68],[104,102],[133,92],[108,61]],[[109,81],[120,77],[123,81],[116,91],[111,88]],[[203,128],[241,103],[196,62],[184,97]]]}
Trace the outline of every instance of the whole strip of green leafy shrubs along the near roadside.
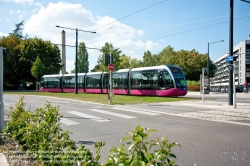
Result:
{"label": "whole strip of green leafy shrubs along the near roadside", "polygon": [[[121,139],[120,147],[110,149],[105,163],[100,163],[105,142],[95,142],[95,153],[83,144],[79,147],[70,139],[70,132],[60,126],[59,106],[47,102],[44,108],[26,110],[24,97],[10,108],[10,121],[0,140],[1,151],[13,165],[53,166],[173,166],[176,156],[172,149],[180,146],[169,143],[163,136],[148,140],[155,129],[137,126]],[[4,142],[12,146],[4,146]],[[11,140],[11,141],[10,141]],[[13,153],[14,152],[14,153]],[[20,161],[22,160],[22,161]],[[14,163],[13,163],[14,162]]]}

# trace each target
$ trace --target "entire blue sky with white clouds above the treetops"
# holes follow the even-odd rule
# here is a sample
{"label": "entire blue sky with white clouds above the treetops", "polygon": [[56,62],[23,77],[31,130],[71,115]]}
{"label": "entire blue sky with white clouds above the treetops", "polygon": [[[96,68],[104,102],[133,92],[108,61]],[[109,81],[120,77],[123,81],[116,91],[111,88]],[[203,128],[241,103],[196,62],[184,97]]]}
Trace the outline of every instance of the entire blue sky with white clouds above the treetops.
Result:
{"label": "entire blue sky with white clouds above the treetops", "polygon": [[[249,0],[250,1],[250,0]],[[23,34],[61,44],[84,42],[101,49],[106,42],[123,54],[142,60],[167,46],[193,50],[216,61],[229,52],[230,0],[0,0],[0,36],[24,20]],[[72,28],[62,29],[61,27]],[[80,31],[83,30],[83,31]],[[85,31],[85,32],[84,32]],[[94,31],[89,33],[86,31]],[[234,0],[234,46],[250,37],[250,3]],[[90,70],[100,51],[88,49]],[[66,47],[66,71],[75,68],[75,48]]]}

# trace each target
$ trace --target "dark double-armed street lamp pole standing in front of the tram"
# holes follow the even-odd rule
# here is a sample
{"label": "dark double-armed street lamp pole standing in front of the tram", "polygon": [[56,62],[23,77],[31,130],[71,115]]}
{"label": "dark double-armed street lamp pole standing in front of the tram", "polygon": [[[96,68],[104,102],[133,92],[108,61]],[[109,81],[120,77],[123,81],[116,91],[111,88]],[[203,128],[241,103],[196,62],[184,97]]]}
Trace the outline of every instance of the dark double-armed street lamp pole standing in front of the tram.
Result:
{"label": "dark double-armed street lamp pole standing in front of the tram", "polygon": [[77,54],[77,47],[78,47],[78,31],[82,32],[89,32],[89,33],[96,33],[93,31],[85,31],[77,28],[67,28],[67,27],[62,27],[59,25],[56,25],[57,28],[63,28],[63,29],[70,29],[70,30],[75,30],[76,31],[76,60],[75,60],[75,94],[78,93],[78,68],[77,68],[77,62],[78,62],[78,54]]}

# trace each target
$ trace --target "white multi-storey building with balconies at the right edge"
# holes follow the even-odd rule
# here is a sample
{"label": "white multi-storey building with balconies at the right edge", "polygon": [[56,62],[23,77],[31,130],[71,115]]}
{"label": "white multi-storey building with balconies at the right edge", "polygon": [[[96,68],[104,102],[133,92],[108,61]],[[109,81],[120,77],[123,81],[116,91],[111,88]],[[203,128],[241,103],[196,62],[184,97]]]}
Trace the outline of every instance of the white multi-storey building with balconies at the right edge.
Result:
{"label": "white multi-storey building with balconies at the right edge", "polygon": [[[223,55],[214,63],[217,67],[215,77],[211,78],[212,91],[228,91],[229,84],[229,69],[226,57],[228,54]],[[243,40],[233,48],[234,61],[234,74],[235,85],[240,86],[245,82],[250,85],[250,35],[248,40]]]}

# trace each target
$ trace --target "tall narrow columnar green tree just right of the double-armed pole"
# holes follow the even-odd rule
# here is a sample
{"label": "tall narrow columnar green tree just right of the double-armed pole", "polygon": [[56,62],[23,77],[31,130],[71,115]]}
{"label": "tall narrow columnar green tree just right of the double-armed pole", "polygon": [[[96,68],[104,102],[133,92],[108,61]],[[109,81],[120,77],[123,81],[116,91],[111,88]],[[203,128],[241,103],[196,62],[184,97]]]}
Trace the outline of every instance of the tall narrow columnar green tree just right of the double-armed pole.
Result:
{"label": "tall narrow columnar green tree just right of the double-armed pole", "polygon": [[79,44],[78,49],[78,73],[89,72],[89,54],[84,42]]}

